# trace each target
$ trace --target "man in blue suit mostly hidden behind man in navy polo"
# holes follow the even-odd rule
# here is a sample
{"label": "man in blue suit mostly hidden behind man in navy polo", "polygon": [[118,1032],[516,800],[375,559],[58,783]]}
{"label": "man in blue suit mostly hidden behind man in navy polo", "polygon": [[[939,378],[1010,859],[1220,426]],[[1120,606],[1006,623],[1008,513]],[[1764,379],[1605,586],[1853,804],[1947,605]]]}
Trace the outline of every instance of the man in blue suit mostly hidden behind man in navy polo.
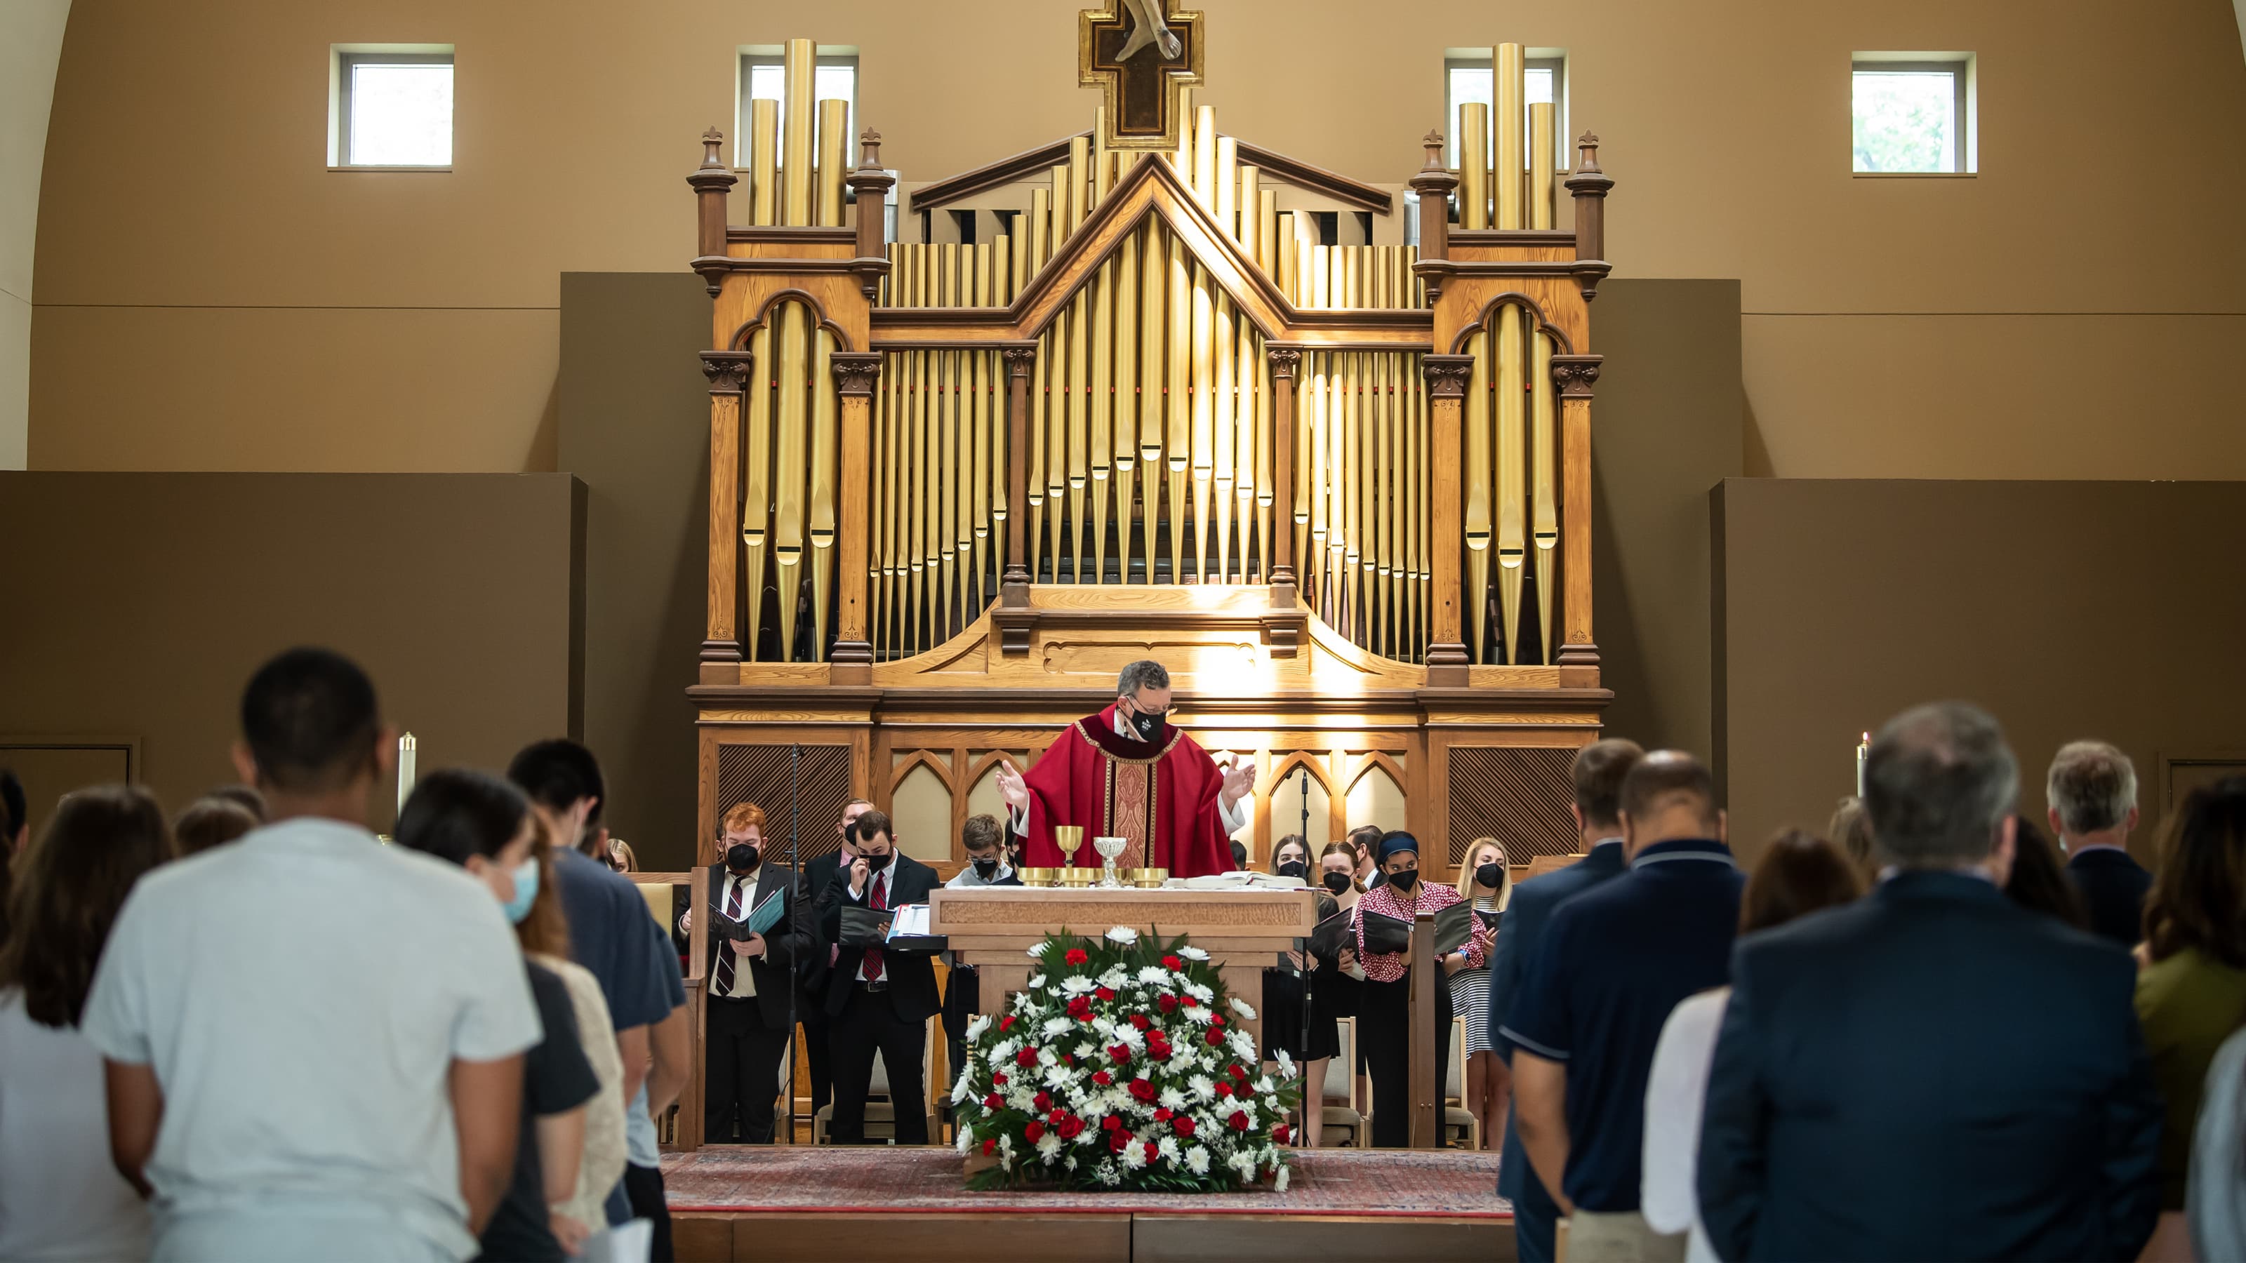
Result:
{"label": "man in blue suit mostly hidden behind man in navy polo", "polygon": [[[1505,924],[1498,928],[1498,942],[1489,957],[1489,1043],[1507,1063],[1514,1058],[1514,1045],[1498,1034],[1498,1027],[1505,1025],[1505,1016],[1521,996],[1523,973],[1552,910],[1626,870],[1622,861],[1622,780],[1642,757],[1644,751],[1635,742],[1622,739],[1592,742],[1577,751],[1570,773],[1574,778],[1574,807],[1570,811],[1583,858],[1536,881],[1523,881],[1505,908]],[[1505,1148],[1498,1160],[1498,1196],[1514,1205],[1514,1243],[1521,1263],[1550,1263],[1559,1205],[1530,1169],[1530,1155],[1521,1148],[1521,1133],[1509,1112],[1505,1117]]]}

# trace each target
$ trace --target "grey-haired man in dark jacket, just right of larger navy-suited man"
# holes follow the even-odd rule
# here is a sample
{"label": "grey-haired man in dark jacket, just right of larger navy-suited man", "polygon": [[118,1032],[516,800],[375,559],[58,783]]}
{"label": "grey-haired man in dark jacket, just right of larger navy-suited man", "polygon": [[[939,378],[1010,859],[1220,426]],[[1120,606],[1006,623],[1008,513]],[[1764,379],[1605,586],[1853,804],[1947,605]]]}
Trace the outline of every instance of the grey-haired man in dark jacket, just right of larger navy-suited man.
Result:
{"label": "grey-haired man in dark jacket, just right of larger navy-suited man", "polygon": [[2082,892],[2091,933],[2120,946],[2145,937],[2152,874],[2129,858],[2136,829],[2136,764],[2105,742],[2069,742],[2044,778],[2051,832],[2066,847],[2066,876]]}

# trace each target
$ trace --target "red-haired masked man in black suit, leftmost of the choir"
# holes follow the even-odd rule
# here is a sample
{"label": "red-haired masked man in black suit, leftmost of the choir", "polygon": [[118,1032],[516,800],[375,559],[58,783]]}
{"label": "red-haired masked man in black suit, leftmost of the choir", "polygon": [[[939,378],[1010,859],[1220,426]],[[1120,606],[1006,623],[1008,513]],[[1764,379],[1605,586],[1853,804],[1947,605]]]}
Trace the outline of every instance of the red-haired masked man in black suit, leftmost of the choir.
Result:
{"label": "red-haired masked man in black suit, leftmost of the choir", "polygon": [[[710,1023],[703,1076],[705,1144],[770,1144],[773,1103],[779,1099],[779,1058],[788,1050],[788,989],[795,964],[818,946],[811,933],[811,885],[788,865],[766,858],[764,811],[737,802],[719,825],[716,854],[703,908],[748,921],[779,892],[779,924],[746,939],[723,937],[710,919]],[[694,928],[694,908],[678,919],[681,944]]]}

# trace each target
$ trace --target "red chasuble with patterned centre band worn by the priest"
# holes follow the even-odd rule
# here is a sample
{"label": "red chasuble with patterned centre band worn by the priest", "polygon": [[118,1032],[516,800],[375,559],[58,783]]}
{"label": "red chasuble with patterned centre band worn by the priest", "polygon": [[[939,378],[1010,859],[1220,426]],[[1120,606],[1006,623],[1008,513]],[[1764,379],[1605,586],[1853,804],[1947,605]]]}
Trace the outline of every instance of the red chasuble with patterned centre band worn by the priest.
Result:
{"label": "red chasuble with patterned centre band worn by the priest", "polygon": [[1053,825],[1083,825],[1076,863],[1098,867],[1092,838],[1125,838],[1116,867],[1166,867],[1170,876],[1231,872],[1233,845],[1217,816],[1224,773],[1193,737],[1161,726],[1152,742],[1119,737],[1116,708],[1069,724],[1022,778],[1029,784],[1031,867],[1060,867]]}

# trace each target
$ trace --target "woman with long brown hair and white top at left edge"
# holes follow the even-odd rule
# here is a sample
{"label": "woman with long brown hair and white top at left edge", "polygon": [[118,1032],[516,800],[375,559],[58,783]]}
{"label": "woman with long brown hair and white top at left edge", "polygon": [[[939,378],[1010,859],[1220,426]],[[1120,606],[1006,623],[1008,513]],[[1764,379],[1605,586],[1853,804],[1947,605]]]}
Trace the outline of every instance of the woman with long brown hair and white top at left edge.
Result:
{"label": "woman with long brown hair and white top at left edge", "polygon": [[0,1259],[148,1256],[148,1207],[110,1162],[101,1054],[79,1018],[117,910],[168,858],[155,798],[108,784],[63,798],[18,865],[0,946]]}

